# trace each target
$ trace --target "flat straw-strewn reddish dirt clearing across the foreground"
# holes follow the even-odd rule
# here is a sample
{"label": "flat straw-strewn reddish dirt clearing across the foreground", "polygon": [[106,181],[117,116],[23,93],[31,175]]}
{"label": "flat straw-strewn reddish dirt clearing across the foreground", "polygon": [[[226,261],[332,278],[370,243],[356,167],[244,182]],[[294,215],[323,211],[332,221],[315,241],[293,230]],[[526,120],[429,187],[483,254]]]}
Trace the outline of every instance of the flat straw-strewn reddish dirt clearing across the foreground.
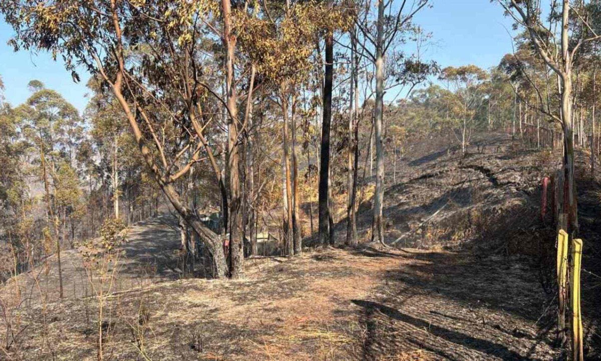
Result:
{"label": "flat straw-strewn reddish dirt clearing across the foreground", "polygon": [[[144,249],[176,235],[160,223],[132,232]],[[252,259],[240,281],[157,276],[108,298],[105,354],[141,360],[143,344],[151,360],[551,360],[533,275],[520,259],[363,248]],[[18,313],[13,359],[96,358],[90,299]]]}

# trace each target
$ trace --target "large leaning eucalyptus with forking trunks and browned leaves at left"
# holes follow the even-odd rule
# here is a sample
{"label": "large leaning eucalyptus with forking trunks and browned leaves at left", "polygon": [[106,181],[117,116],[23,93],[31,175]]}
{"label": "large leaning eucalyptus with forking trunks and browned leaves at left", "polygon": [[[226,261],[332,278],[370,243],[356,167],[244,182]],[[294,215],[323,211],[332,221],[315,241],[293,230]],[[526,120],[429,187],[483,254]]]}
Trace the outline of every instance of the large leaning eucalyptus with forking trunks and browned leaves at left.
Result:
{"label": "large leaning eucalyptus with forking trunks and browned leaves at left", "polygon": [[[228,274],[222,239],[183,202],[174,183],[199,167],[205,153],[223,184],[206,132],[218,130],[216,123],[225,118],[229,271],[240,276],[240,142],[230,1],[3,0],[0,7],[16,31],[15,49],[61,55],[74,78],[81,64],[112,91],[154,181],[212,255],[215,277]],[[214,58],[225,59],[225,66],[212,63]],[[224,95],[210,85],[215,80],[225,82]]]}

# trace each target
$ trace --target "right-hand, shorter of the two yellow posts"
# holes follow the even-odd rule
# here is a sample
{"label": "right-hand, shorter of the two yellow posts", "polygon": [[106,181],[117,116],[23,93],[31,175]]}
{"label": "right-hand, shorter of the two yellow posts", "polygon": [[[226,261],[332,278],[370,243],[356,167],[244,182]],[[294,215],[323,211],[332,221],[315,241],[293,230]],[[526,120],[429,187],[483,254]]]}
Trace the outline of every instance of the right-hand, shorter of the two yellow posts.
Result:
{"label": "right-hand, shorter of the two yellow posts", "polygon": [[580,312],[580,267],[582,262],[582,239],[572,239],[572,282],[570,298],[572,298],[572,339],[574,361],[583,361],[582,351],[582,317]]}

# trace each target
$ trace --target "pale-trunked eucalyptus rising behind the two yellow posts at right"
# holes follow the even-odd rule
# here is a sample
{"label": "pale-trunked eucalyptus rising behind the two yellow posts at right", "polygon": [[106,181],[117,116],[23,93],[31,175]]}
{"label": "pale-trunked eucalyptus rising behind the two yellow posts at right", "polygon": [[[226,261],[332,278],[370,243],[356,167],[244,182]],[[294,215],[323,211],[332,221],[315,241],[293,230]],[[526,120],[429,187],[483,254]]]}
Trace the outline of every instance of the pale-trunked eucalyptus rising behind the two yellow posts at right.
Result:
{"label": "pale-trunked eucalyptus rising behind the two yellow posts at right", "polygon": [[[576,212],[576,191],[574,179],[573,144],[573,69],[579,51],[585,46],[601,40],[598,26],[591,19],[591,2],[570,2],[569,0],[549,2],[546,9],[540,1],[498,0],[505,13],[511,16],[516,25],[527,32],[534,54],[545,62],[557,76],[557,90],[560,106],[547,111],[548,116],[563,129],[563,171],[561,172],[567,187],[567,197],[561,197],[560,214],[565,215],[561,227],[578,229]],[[545,13],[550,14],[545,18]],[[538,97],[542,96],[538,94]]]}

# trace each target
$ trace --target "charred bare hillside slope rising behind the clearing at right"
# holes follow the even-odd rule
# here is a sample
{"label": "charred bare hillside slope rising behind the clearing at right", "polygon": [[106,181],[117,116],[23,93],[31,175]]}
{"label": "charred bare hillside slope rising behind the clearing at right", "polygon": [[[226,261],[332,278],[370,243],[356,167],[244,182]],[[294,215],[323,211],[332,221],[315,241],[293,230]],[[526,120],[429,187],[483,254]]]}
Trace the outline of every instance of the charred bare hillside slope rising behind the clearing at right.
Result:
{"label": "charred bare hillside slope rising behind the clearing at right", "polygon": [[[387,174],[386,242],[398,247],[473,245],[505,248],[507,254],[538,253],[540,237],[531,231],[539,226],[540,179],[557,166],[552,161],[559,159],[557,155],[523,149],[506,134],[475,135],[463,157],[453,143],[434,151],[423,143],[428,142],[407,152],[396,183]],[[369,186],[373,188],[373,181]],[[371,237],[368,196],[358,218],[365,238]],[[344,232],[346,221],[338,227],[339,241]],[[529,242],[516,242],[524,236],[531,238]]]}

